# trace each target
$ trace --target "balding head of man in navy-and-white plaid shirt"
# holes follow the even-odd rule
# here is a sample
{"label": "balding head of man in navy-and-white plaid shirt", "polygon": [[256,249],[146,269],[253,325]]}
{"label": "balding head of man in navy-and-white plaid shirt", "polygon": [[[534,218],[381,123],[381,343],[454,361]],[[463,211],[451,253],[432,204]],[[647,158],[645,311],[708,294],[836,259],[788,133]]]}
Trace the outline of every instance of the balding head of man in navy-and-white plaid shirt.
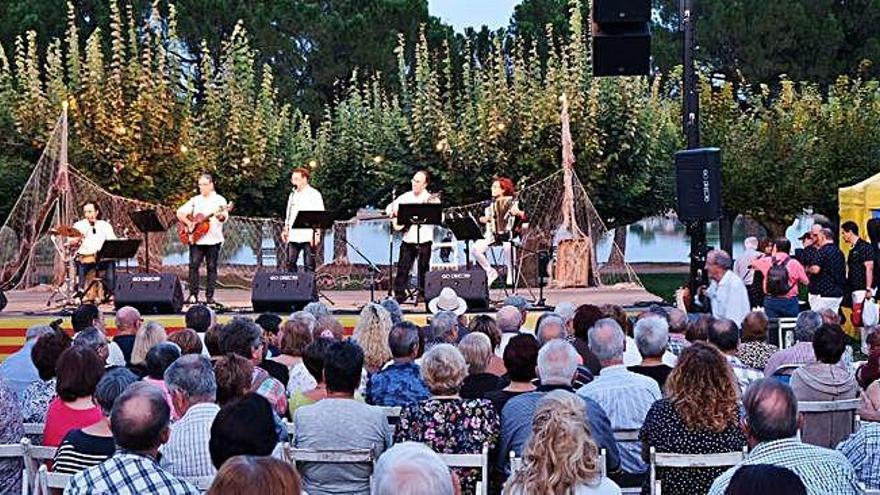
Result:
{"label": "balding head of man in navy-and-white plaid shirt", "polygon": [[113,404],[110,429],[116,445],[146,452],[158,448],[171,420],[162,390],[145,382],[130,385]]}

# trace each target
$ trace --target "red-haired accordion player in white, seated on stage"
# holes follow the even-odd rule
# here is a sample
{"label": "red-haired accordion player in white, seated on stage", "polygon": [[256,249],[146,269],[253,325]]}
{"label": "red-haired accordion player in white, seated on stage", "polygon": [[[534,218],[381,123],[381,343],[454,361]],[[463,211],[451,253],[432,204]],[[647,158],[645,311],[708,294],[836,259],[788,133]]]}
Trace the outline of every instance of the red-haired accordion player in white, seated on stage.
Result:
{"label": "red-haired accordion player in white, seated on stage", "polygon": [[514,199],[516,190],[513,181],[507,177],[498,177],[492,181],[492,200],[486,207],[480,223],[486,224],[484,237],[474,243],[474,258],[477,263],[486,270],[489,287],[498,278],[498,270],[492,267],[486,257],[486,251],[492,246],[502,245],[504,259],[507,261],[507,285],[513,284],[513,258],[511,256],[511,243],[514,237],[514,226],[517,219],[525,218],[525,213],[519,209],[519,204]]}

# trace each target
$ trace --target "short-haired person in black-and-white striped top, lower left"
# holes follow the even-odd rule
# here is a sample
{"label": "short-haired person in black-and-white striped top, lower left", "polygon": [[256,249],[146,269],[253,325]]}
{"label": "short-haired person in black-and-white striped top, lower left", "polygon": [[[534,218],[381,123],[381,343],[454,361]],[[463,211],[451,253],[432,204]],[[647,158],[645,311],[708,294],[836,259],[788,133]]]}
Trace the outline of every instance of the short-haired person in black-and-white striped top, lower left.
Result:
{"label": "short-haired person in black-and-white striped top, lower left", "polygon": [[62,474],[76,474],[96,466],[113,456],[116,442],[110,430],[113,402],[138,381],[137,375],[125,368],[112,369],[101,377],[95,388],[95,403],[103,417],[85,428],[70,430],[55,451],[53,470]]}

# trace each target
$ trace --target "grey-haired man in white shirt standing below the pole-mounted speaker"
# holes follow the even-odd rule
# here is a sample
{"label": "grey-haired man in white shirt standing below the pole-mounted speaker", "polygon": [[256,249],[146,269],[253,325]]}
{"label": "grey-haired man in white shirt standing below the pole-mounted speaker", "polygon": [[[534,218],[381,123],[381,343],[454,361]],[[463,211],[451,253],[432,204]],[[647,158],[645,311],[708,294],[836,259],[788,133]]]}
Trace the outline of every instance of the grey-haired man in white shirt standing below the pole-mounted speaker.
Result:
{"label": "grey-haired man in white shirt standing below the pole-mounted speaker", "polygon": [[715,249],[706,255],[706,272],[711,282],[706,296],[712,303],[712,316],[727,318],[737,325],[752,310],[749,294],[741,278],[731,271],[733,260],[726,252]]}

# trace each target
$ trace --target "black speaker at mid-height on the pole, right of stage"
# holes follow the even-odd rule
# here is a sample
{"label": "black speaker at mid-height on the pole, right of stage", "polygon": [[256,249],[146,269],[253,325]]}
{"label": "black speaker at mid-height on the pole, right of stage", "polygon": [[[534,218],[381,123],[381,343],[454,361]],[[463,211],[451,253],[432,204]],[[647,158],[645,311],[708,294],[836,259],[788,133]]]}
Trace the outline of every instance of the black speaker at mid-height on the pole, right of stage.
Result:
{"label": "black speaker at mid-height on the pole, right of stage", "polygon": [[675,154],[679,220],[721,216],[721,150],[697,148]]}

